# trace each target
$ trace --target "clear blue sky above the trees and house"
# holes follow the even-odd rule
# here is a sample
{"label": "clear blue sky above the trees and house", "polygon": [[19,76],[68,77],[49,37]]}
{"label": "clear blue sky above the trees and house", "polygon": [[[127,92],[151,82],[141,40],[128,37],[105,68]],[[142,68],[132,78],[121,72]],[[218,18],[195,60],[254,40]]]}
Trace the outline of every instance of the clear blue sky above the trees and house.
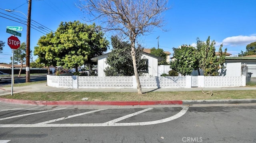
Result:
{"label": "clear blue sky above the trees and house", "polygon": [[[56,31],[60,22],[79,20],[86,23],[82,20],[82,11],[74,4],[76,2],[78,0],[32,0],[31,24],[34,25],[32,25],[34,29],[31,28],[30,40],[32,51],[38,39],[51,30]],[[197,37],[206,41],[210,36],[211,40],[216,41],[217,50],[223,43],[223,49],[227,48],[228,53],[237,55],[241,50],[246,51],[246,45],[256,41],[256,0],[169,0],[168,6],[170,10],[165,12],[166,24],[163,27],[168,31],[154,29],[148,35],[141,37],[139,42],[144,47],[158,47],[156,38],[159,36],[159,47],[173,53],[173,47],[183,44],[194,46]],[[6,12],[5,9],[24,14]],[[22,37],[18,38],[21,42],[26,42],[24,15],[27,13],[27,0],[1,0],[0,40],[6,43],[3,53],[0,53],[0,63],[10,63],[12,56],[12,50],[7,45],[7,39],[11,34],[6,33],[6,26],[22,26]],[[100,23],[96,22],[96,25]],[[112,33],[106,33],[107,39],[110,39],[111,35]],[[36,57],[33,56],[32,60],[35,59]]]}

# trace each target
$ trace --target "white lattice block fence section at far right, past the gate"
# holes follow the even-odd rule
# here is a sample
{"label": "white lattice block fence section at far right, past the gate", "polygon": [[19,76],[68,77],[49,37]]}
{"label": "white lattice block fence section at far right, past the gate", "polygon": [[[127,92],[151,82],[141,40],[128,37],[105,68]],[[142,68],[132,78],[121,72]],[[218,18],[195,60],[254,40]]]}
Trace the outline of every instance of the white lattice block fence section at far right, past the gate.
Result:
{"label": "white lattice block fence section at far right, past the gate", "polygon": [[204,76],[204,87],[244,86],[244,76]]}

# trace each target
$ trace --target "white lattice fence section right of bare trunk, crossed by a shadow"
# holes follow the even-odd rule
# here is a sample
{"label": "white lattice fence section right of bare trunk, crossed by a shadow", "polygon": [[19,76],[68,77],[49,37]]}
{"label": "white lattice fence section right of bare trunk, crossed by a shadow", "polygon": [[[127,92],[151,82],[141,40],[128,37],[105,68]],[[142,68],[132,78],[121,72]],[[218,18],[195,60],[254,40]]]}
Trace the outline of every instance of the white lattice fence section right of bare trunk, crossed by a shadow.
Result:
{"label": "white lattice fence section right of bare trunk, crossed by a shadow", "polygon": [[160,76],[160,77],[141,76],[140,84],[142,88],[187,87],[187,77],[186,76]]}

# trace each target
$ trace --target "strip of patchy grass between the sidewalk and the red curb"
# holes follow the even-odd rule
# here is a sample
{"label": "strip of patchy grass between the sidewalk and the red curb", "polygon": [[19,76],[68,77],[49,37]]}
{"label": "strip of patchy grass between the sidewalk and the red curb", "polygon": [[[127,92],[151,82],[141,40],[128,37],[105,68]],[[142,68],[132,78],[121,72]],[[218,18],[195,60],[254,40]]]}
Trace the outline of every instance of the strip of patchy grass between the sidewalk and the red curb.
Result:
{"label": "strip of patchy grass between the sidewalk and the red curb", "polygon": [[[208,91],[204,91],[208,92]],[[147,92],[138,95],[136,92],[23,92],[1,98],[46,101],[148,101],[148,100],[216,100],[216,99],[256,99],[256,90],[212,91],[213,95],[202,91],[189,92]]]}

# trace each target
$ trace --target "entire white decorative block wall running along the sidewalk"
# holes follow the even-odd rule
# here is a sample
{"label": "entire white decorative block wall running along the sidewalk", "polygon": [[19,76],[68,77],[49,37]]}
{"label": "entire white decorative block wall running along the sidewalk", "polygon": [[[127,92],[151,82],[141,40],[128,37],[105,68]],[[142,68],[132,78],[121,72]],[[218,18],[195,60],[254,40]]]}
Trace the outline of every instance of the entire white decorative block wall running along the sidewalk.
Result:
{"label": "entire white decorative block wall running along the sidewalk", "polygon": [[[191,76],[140,76],[142,88],[191,88]],[[47,85],[57,88],[137,88],[135,76],[54,76]],[[198,76],[198,87],[238,87],[246,76]]]}

